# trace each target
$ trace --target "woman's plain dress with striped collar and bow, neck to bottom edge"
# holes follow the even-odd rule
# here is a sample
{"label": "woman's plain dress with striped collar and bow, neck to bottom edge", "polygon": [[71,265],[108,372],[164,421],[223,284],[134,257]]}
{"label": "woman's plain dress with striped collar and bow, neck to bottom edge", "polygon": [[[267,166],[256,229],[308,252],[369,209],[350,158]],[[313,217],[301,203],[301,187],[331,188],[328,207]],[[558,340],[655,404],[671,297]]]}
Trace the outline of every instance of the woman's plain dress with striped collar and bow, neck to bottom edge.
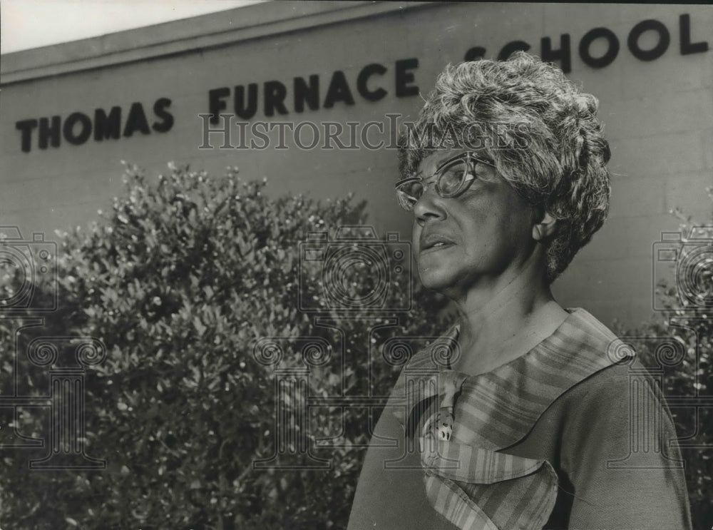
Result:
{"label": "woman's plain dress with striped collar and bow, neck to bottom edge", "polygon": [[[690,528],[660,385],[607,327],[571,310],[533,350],[476,376],[448,368],[458,330],[401,371],[367,453],[350,530]],[[398,448],[386,443],[392,437]],[[408,484],[416,462],[420,493]],[[399,510],[399,484],[411,509]]]}

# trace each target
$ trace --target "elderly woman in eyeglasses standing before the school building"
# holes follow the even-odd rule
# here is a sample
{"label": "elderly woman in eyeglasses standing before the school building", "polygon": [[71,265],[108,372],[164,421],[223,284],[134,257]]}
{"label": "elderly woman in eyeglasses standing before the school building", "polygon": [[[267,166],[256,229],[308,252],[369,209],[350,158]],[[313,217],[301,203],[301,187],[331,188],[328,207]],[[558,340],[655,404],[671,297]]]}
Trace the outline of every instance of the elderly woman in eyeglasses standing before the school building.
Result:
{"label": "elderly woman in eyeglasses standing before the school building", "polygon": [[596,113],[525,53],[438,77],[401,141],[396,191],[421,281],[459,318],[402,370],[349,530],[690,528],[655,384],[550,292],[607,215]]}

